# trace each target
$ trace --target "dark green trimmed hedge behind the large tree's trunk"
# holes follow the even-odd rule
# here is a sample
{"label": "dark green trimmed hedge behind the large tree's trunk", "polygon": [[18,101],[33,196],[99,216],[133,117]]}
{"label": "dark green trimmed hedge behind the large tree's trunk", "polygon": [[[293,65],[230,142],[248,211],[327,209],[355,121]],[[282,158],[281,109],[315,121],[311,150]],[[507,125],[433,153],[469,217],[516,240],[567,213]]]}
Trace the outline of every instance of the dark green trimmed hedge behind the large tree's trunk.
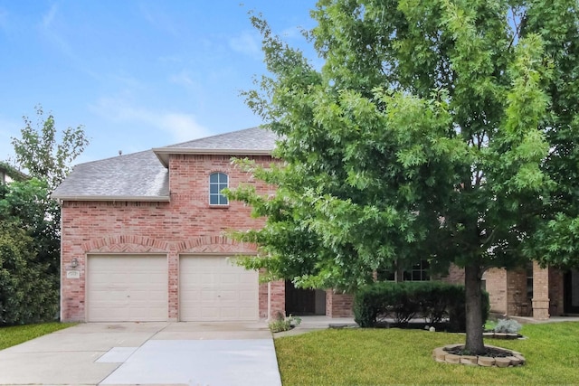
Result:
{"label": "dark green trimmed hedge behind the large tree's trunk", "polygon": [[[465,291],[463,286],[442,282],[375,282],[357,290],[355,320],[361,327],[374,327],[385,318],[397,325],[423,317],[429,324],[449,319],[452,331],[464,331]],[[489,294],[484,293],[482,317],[489,317]]]}

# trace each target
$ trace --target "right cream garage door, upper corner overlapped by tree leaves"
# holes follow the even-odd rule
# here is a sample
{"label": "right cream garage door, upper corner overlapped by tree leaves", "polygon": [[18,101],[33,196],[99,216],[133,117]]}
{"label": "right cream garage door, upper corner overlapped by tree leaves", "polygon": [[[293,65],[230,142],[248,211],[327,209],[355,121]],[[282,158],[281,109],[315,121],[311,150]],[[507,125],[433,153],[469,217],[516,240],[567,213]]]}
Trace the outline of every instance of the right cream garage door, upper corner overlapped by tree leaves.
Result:
{"label": "right cream garage door, upper corner overlapped by tree leaves", "polygon": [[179,318],[198,321],[258,319],[258,273],[224,257],[181,256]]}

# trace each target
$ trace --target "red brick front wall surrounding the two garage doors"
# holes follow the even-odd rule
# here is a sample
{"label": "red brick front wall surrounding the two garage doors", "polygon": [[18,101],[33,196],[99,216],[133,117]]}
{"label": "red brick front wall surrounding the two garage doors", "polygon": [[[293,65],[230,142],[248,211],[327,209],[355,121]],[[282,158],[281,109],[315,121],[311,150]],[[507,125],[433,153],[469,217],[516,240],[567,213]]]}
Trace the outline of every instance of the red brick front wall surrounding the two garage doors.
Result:
{"label": "red brick front wall surrounding the two garage doors", "polygon": [[[271,157],[252,157],[269,165]],[[171,155],[170,202],[62,203],[62,320],[85,320],[85,264],[90,253],[163,253],[169,264],[168,319],[178,315],[178,262],[182,253],[254,253],[255,246],[229,240],[229,230],[261,227],[242,202],[210,207],[209,174],[223,172],[230,186],[252,184],[259,192],[273,188],[252,179],[225,155]],[[66,278],[71,260],[81,278]],[[265,289],[264,289],[265,288]],[[260,287],[260,315],[267,314],[267,285]],[[283,308],[281,308],[283,311]],[[271,312],[271,310],[270,310]]]}

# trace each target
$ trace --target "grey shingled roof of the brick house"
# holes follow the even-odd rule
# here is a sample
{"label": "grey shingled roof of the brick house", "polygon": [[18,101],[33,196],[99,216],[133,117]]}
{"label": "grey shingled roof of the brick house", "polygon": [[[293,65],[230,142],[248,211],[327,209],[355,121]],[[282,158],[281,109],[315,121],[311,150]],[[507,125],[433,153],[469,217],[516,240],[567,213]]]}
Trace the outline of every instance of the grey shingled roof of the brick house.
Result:
{"label": "grey shingled roof of the brick house", "polygon": [[52,193],[63,201],[169,201],[171,154],[271,155],[276,136],[252,127],[74,166]]}

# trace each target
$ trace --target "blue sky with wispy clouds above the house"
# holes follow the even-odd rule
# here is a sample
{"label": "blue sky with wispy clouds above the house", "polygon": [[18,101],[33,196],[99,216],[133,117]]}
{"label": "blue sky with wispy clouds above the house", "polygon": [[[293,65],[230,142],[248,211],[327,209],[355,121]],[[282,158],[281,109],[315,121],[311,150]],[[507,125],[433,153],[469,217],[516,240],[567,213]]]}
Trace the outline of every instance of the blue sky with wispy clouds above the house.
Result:
{"label": "blue sky with wispy clouds above the house", "polygon": [[312,58],[315,0],[0,0],[0,160],[23,116],[83,125],[77,160],[253,127],[239,92],[265,72],[248,12]]}

